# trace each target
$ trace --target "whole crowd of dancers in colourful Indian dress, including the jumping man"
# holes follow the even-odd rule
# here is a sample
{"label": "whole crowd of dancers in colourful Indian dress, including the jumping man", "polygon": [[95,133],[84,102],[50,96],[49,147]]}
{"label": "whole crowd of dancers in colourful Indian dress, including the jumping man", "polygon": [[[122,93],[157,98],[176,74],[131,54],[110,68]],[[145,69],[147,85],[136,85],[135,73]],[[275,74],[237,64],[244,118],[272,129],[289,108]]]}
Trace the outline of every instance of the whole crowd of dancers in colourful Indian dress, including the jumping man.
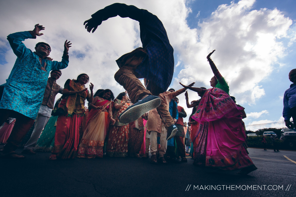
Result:
{"label": "whole crowd of dancers in colourful Indian dress, including the jumping man", "polygon": [[[93,14],[84,22],[85,28],[94,32],[102,21],[117,15],[139,21],[143,47],[116,60],[115,80],[126,89],[116,98],[110,89],[93,94],[94,85],[86,87],[89,76],[85,73],[59,86],[56,80],[69,64],[71,43],[65,41],[61,62],[48,57],[51,47],[47,43],[37,43],[35,52],[22,43],[43,35],[42,25],[7,37],[17,60],[7,82],[0,86],[0,124],[9,122],[1,157],[25,158],[15,150],[33,130],[22,153],[50,151],[51,160],[102,158],[104,154],[149,158],[150,151],[152,164],[187,162],[190,154],[194,165],[201,167],[240,170],[242,175],[256,170],[245,144],[244,108],[230,97],[228,84],[210,58],[215,50],[207,56],[214,74],[212,88],[180,83],[183,88],[168,89],[174,70],[173,48],[155,15],[116,3]],[[201,98],[189,103],[187,89]],[[187,108],[193,108],[188,125],[177,97],[184,92]],[[54,105],[57,93],[62,98]]]}

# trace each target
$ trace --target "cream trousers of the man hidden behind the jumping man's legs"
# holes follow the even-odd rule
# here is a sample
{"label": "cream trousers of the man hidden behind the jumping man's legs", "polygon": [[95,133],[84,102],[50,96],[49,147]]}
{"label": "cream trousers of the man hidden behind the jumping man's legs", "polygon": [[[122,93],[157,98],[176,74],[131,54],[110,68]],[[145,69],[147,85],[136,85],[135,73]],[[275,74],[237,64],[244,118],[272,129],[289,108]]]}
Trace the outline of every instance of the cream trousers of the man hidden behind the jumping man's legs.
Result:
{"label": "cream trousers of the man hidden behind the jumping man's legs", "polygon": [[[161,133],[160,133],[160,150],[159,150],[159,157],[163,157],[167,146],[168,141],[166,140],[167,130],[165,126],[163,125],[161,127]],[[157,153],[157,131],[151,131],[150,133],[150,152],[152,155],[155,155]]]}

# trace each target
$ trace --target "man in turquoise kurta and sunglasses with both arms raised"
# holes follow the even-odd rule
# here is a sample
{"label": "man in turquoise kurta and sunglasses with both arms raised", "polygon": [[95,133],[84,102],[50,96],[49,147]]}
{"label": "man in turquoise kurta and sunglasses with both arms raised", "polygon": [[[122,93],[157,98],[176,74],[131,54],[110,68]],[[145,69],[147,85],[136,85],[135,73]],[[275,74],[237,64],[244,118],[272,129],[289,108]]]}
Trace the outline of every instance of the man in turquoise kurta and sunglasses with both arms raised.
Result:
{"label": "man in turquoise kurta and sunglasses with both arms raised", "polygon": [[46,43],[37,43],[35,52],[22,43],[25,39],[43,35],[42,25],[35,25],[33,31],[17,32],[7,36],[9,44],[17,56],[15,65],[0,87],[0,125],[8,118],[17,118],[7,144],[4,146],[4,156],[9,158],[24,158],[15,153],[17,145],[31,128],[38,114],[47,78],[51,70],[65,69],[69,63],[68,51],[70,42],[65,42],[62,61],[51,61],[48,57],[51,48]]}

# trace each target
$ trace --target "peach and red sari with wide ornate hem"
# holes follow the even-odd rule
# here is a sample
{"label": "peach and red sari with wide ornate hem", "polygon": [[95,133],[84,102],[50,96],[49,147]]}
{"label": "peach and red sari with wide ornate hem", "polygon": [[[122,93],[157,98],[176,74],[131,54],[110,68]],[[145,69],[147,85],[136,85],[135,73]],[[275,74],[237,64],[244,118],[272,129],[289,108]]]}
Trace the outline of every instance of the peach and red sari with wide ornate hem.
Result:
{"label": "peach and red sari with wide ornate hem", "polygon": [[89,159],[103,157],[104,139],[110,123],[108,112],[103,110],[108,110],[111,102],[109,100],[97,100],[95,106],[103,106],[103,108],[89,111],[77,157]]}

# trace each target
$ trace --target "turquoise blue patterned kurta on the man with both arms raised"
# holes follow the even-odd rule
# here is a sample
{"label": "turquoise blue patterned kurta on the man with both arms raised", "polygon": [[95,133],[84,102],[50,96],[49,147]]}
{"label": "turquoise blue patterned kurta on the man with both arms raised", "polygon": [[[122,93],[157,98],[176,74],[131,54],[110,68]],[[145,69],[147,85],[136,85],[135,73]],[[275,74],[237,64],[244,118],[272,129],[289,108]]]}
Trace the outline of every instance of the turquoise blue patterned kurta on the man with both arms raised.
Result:
{"label": "turquoise blue patterned kurta on the man with both arms raised", "polygon": [[40,108],[47,78],[51,70],[65,69],[68,66],[68,57],[62,61],[41,60],[46,65],[42,70],[39,56],[33,53],[22,43],[25,39],[36,38],[30,32],[17,32],[7,36],[9,44],[17,56],[15,65],[3,84],[4,92],[0,102],[0,109],[19,112],[35,119]]}

